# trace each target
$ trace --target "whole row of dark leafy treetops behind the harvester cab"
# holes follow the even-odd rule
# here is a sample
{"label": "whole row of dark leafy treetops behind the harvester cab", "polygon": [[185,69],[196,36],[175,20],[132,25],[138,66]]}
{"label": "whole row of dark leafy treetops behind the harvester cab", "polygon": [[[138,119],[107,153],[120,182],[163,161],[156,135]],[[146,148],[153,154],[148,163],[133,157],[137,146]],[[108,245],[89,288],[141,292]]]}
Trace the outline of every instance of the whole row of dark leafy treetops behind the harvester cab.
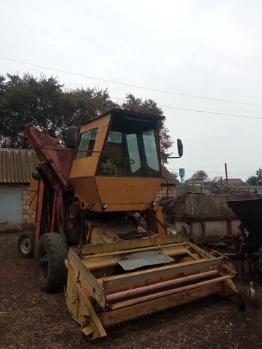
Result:
{"label": "whole row of dark leafy treetops behind the harvester cab", "polygon": [[[151,99],[135,98],[131,93],[123,105],[110,100],[108,90],[76,88],[64,91],[57,78],[30,74],[0,76],[0,146],[28,148],[23,130],[33,125],[45,132],[55,130],[64,138],[67,127],[81,125],[113,108],[159,116],[161,156],[169,156],[172,140],[164,126],[163,110]],[[164,162],[167,162],[166,160]]]}

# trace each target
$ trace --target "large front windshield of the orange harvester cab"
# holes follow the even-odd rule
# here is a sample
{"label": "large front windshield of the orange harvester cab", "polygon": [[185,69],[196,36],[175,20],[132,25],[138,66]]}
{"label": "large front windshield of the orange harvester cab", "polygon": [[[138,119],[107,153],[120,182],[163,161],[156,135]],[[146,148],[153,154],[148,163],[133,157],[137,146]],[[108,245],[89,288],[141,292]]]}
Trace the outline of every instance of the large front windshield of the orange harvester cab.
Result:
{"label": "large front windshield of the orange harvester cab", "polygon": [[115,119],[98,175],[161,177],[155,122]]}

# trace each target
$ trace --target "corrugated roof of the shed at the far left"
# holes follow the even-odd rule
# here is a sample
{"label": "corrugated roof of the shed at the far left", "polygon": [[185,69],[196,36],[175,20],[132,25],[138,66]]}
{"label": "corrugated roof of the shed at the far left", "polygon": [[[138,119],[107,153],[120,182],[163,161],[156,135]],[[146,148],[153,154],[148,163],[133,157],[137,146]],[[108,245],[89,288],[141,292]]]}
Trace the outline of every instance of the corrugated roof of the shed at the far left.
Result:
{"label": "corrugated roof of the shed at the far left", "polygon": [[0,148],[0,183],[30,183],[38,162],[33,150]]}

